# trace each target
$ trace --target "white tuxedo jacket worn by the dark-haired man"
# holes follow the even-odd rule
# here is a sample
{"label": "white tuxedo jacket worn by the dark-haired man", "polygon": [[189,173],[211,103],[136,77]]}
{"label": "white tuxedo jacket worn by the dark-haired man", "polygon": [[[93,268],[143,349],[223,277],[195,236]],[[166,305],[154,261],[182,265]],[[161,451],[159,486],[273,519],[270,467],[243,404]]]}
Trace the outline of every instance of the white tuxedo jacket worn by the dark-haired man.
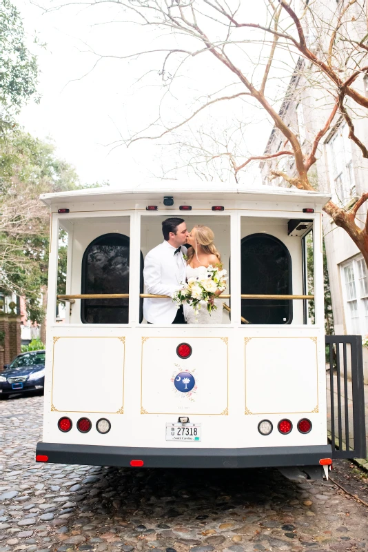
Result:
{"label": "white tuxedo jacket worn by the dark-haired man", "polygon": [[[164,241],[159,246],[151,249],[145,256],[145,268],[143,276],[145,281],[145,293],[153,295],[174,295],[185,282],[187,248],[181,246],[181,251],[175,255],[175,248]],[[172,299],[144,299],[143,315],[151,324],[172,324],[178,306]]]}

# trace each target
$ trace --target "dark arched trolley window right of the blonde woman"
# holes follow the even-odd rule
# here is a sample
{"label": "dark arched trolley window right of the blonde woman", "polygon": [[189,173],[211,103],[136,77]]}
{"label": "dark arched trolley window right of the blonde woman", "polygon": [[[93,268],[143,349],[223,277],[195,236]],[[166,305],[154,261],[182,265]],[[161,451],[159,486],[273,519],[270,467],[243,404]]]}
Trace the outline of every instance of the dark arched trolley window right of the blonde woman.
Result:
{"label": "dark arched trolley window right of the blonde woman", "polygon": [[[292,295],[292,258],[276,237],[252,234],[241,240],[241,293]],[[291,324],[291,299],[242,299],[241,315],[249,324]]]}

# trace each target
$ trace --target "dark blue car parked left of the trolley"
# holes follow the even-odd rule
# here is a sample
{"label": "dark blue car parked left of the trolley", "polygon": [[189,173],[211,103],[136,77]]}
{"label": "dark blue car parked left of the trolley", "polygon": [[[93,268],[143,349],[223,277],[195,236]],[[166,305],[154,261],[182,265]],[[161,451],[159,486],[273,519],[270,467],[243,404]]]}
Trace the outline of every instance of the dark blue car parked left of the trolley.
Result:
{"label": "dark blue car parked left of the trolley", "polygon": [[0,397],[23,391],[43,391],[45,351],[21,353],[0,372]]}

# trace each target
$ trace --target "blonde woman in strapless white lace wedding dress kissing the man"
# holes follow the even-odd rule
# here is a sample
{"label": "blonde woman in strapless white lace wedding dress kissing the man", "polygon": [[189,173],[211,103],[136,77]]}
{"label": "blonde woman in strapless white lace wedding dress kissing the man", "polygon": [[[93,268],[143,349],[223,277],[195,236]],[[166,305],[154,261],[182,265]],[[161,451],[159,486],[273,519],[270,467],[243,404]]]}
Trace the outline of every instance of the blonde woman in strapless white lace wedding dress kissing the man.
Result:
{"label": "blonde woman in strapless white lace wedding dress kissing the man", "polygon": [[[221,265],[221,256],[214,244],[214,233],[208,226],[197,224],[192,229],[187,237],[188,248],[187,253],[187,278],[196,278],[203,272],[207,272],[207,267]],[[216,291],[216,295],[220,295],[221,291]],[[221,324],[223,320],[223,302],[220,299],[215,299],[214,304],[217,306],[216,311],[209,314],[207,305],[201,305],[198,315],[196,316],[194,308],[187,303],[183,304],[184,316],[187,324]]]}

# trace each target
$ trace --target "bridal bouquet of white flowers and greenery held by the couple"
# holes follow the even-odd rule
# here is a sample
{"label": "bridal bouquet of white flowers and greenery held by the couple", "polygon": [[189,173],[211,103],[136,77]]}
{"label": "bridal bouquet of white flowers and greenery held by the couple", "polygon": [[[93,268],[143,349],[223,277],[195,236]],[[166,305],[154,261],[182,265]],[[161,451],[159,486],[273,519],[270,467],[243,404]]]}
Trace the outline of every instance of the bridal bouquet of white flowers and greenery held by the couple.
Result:
{"label": "bridal bouquet of white flowers and greenery held by the couple", "polygon": [[219,266],[209,265],[207,272],[203,272],[196,278],[188,278],[187,283],[182,284],[181,288],[174,293],[172,300],[178,304],[178,308],[185,302],[190,304],[196,313],[201,308],[201,304],[206,304],[207,311],[211,314],[217,307],[210,301],[216,297],[216,291],[225,290],[226,274],[226,270],[221,270]]}

